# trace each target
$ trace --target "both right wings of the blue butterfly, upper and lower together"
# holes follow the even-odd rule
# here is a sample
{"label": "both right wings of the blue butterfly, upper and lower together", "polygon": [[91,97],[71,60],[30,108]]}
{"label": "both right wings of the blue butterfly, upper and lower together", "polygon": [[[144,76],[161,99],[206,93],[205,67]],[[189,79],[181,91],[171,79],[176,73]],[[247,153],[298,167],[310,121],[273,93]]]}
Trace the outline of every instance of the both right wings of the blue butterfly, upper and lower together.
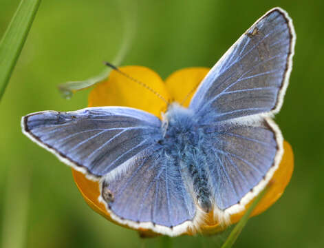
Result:
{"label": "both right wings of the blue butterfly, upper and lower together", "polygon": [[244,199],[257,195],[279,166],[283,137],[265,116],[281,107],[294,39],[288,14],[270,10],[224,54],[193,96],[190,108],[208,136],[204,154],[221,210],[248,203]]}

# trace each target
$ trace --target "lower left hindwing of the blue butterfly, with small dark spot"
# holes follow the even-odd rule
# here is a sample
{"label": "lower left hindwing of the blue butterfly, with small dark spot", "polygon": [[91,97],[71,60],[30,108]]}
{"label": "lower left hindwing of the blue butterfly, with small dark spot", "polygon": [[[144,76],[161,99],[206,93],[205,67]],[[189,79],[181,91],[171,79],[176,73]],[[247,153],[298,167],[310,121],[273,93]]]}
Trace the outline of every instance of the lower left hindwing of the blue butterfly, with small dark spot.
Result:
{"label": "lower left hindwing of the blue butterfly, with small dark spot", "polygon": [[102,187],[102,192],[107,187],[114,196],[113,201],[107,200],[108,208],[135,226],[137,222],[151,222],[175,227],[195,216],[180,167],[165,156],[160,145],[132,161],[122,176],[108,175]]}

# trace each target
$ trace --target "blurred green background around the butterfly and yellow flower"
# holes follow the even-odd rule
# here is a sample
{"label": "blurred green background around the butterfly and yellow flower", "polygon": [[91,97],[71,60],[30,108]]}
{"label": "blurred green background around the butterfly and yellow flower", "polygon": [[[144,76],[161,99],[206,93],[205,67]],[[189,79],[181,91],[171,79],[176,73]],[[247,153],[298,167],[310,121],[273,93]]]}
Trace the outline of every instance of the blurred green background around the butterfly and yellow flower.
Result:
{"label": "blurred green background around the butterfly and yellow flower", "polygon": [[[137,13],[122,65],[144,65],[162,78],[213,66],[270,8],[288,11],[296,52],[276,121],[294,149],[294,174],[282,198],[248,222],[235,247],[324,247],[324,1],[122,1],[125,11]],[[18,4],[0,0],[0,37]],[[101,72],[102,61],[120,49],[122,29],[118,0],[42,1],[0,103],[0,244],[160,247],[161,238],[142,240],[89,209],[69,167],[21,134],[25,114],[87,105],[89,90],[67,101],[56,86]],[[222,238],[180,237],[173,245],[219,247]]]}

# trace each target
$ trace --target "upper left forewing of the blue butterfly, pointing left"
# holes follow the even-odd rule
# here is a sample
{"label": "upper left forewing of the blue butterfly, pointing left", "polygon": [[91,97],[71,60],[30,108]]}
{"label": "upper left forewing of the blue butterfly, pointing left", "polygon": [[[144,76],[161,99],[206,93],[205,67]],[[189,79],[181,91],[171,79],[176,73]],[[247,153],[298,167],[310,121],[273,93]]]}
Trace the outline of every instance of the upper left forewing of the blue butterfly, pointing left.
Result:
{"label": "upper left forewing of the blue butterfly, pointing left", "polygon": [[23,116],[23,133],[93,180],[138,156],[160,138],[161,121],[130,107],[88,107]]}

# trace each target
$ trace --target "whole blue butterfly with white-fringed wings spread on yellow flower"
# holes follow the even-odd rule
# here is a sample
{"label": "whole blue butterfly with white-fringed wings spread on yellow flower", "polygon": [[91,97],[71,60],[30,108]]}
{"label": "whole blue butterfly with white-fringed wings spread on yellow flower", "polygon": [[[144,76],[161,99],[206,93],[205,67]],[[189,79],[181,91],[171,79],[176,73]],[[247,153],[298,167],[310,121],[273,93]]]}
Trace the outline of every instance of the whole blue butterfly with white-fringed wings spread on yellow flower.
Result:
{"label": "whole blue butterfly with white-fringed wings spread on yellow flower", "polygon": [[160,118],[131,107],[88,107],[23,116],[23,133],[100,183],[111,218],[178,236],[213,211],[242,211],[279,167],[279,112],[292,70],[292,20],[274,8],[208,72],[182,107]]}

